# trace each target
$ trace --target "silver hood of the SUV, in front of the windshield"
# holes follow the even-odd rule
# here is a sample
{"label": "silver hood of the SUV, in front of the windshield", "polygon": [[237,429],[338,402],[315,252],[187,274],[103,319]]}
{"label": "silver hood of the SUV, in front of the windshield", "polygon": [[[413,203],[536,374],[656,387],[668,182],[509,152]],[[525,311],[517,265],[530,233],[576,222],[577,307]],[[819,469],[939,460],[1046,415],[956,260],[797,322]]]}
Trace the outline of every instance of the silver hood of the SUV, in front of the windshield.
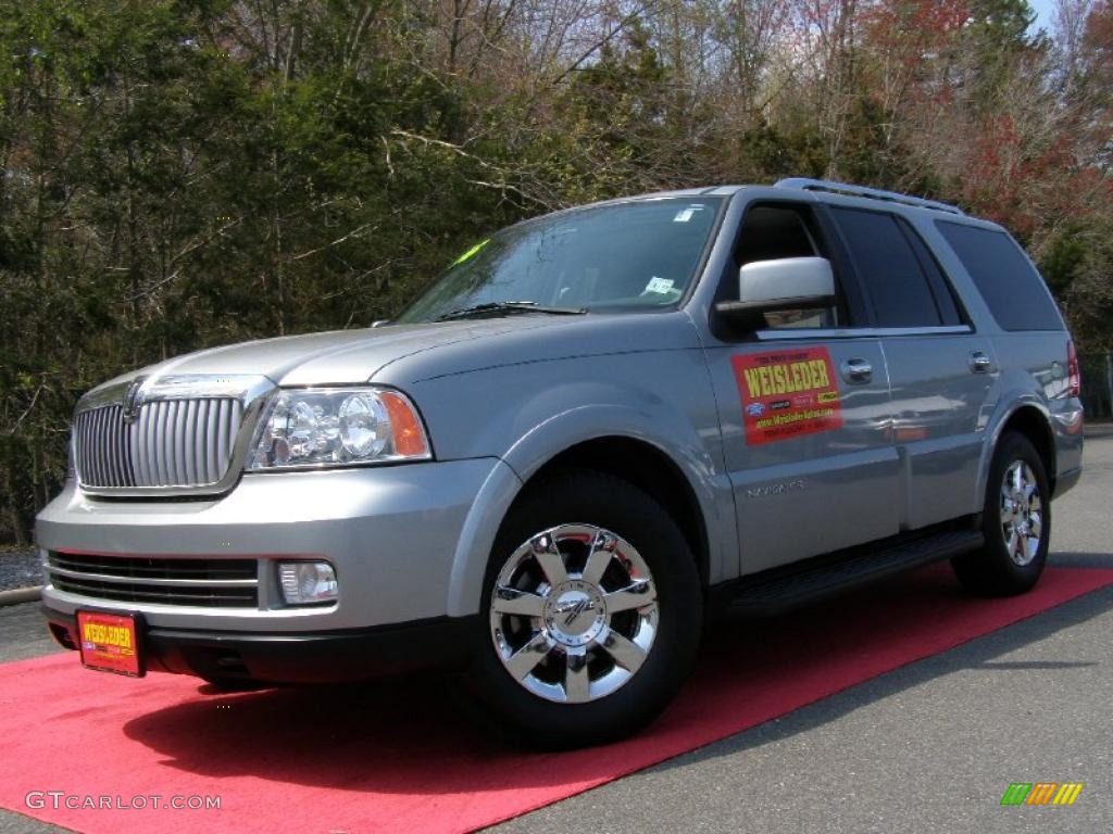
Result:
{"label": "silver hood of the SUV, in front of the windshield", "polygon": [[432,348],[504,332],[552,327],[560,317],[519,316],[431,325],[285,336],[198,350],[110,379],[99,390],[131,379],[176,375],[262,375],[283,386],[358,385],[397,359]]}

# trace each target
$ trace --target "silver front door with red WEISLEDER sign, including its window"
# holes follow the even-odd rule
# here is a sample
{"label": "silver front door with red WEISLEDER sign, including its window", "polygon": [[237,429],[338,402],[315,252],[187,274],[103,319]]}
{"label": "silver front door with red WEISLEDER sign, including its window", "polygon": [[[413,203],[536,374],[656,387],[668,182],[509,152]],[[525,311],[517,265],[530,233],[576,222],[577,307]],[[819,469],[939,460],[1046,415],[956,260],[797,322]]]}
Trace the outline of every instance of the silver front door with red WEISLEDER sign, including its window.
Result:
{"label": "silver front door with red WEISLEDER sign, including its window", "polygon": [[899,529],[889,384],[864,298],[815,203],[748,208],[717,300],[738,298],[748,262],[820,256],[838,302],[767,314],[757,332],[712,319],[707,346],[735,494],[741,573],[894,535]]}

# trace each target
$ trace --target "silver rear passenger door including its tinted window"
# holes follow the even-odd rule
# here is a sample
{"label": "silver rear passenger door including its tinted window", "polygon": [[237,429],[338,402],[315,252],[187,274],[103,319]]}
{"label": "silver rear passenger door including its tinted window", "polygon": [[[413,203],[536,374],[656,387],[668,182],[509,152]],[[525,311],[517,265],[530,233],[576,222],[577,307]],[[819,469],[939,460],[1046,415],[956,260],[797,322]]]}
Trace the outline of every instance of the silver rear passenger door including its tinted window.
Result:
{"label": "silver rear passenger door including its tinted window", "polygon": [[903,217],[831,207],[881,338],[900,458],[903,526],[915,529],[976,510],[977,468],[997,375],[943,270]]}

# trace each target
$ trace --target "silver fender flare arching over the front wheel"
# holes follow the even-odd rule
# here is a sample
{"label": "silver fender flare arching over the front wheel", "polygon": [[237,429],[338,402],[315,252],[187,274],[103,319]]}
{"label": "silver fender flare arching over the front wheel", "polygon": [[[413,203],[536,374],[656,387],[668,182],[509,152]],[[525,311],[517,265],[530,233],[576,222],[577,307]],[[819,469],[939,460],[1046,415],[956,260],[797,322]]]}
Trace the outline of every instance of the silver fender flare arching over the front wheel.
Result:
{"label": "silver fender flare arching over the front wheel", "polygon": [[[644,405],[644,404],[642,404]],[[480,490],[464,524],[453,559],[449,588],[450,616],[479,610],[483,576],[502,519],[522,487],[560,453],[601,437],[627,437],[663,453],[688,479],[703,516],[708,536],[708,573],[719,582],[727,566],[737,565],[737,528],[729,483],[716,473],[695,428],[680,414],[607,404],[585,405],[553,415],[524,433],[509,448]],[[730,556],[735,554],[735,556]]]}

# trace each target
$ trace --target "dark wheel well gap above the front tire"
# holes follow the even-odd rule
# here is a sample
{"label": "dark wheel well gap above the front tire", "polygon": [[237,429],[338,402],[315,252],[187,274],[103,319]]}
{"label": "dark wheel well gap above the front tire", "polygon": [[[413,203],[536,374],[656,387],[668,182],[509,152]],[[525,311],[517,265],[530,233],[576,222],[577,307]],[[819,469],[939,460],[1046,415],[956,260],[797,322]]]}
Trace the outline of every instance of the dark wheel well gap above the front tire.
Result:
{"label": "dark wheel well gap above the front tire", "polygon": [[534,473],[530,485],[561,469],[591,469],[621,478],[668,509],[696,557],[703,587],[708,584],[707,527],[699,500],[680,467],[663,451],[630,437],[598,437],[571,446]]}

